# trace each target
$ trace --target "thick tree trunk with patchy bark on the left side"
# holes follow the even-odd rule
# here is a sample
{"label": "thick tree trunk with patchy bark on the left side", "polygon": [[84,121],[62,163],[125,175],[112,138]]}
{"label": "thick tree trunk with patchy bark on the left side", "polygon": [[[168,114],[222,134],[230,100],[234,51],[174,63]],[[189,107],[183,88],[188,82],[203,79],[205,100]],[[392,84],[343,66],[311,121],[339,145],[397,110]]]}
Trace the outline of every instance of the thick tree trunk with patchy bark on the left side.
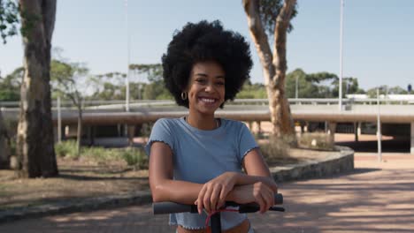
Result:
{"label": "thick tree trunk with patchy bark on the left side", "polygon": [[25,74],[21,84],[18,126],[19,177],[54,177],[58,166],[54,150],[50,100],[50,48],[56,0],[20,0]]}

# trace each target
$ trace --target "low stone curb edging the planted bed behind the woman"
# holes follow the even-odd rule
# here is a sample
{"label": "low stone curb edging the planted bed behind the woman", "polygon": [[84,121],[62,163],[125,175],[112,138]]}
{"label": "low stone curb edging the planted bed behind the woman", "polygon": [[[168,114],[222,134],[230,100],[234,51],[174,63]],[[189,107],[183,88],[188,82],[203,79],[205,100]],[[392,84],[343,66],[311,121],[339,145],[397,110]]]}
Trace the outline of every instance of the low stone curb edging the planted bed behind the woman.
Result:
{"label": "low stone curb edging the planted bed behind the woman", "polygon": [[[272,176],[276,182],[281,183],[299,179],[329,177],[353,170],[354,151],[349,147],[337,147],[337,149],[340,151],[339,154],[336,153],[328,156],[323,161],[301,162],[291,166],[271,168]],[[0,223],[54,214],[70,214],[105,208],[144,205],[151,203],[151,201],[152,198],[149,190],[100,198],[60,201],[42,206],[19,207],[0,211]]]}

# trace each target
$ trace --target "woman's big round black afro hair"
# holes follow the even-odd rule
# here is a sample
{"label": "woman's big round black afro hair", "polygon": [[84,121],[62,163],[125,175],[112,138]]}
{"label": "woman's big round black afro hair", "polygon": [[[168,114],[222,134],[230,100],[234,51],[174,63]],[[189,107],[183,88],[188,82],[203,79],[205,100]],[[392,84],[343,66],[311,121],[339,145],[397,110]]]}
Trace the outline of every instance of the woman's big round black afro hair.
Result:
{"label": "woman's big round black afro hair", "polygon": [[165,87],[178,105],[188,108],[188,100],[181,99],[181,92],[188,86],[193,65],[204,61],[217,62],[225,71],[225,101],[234,100],[249,79],[253,64],[249,43],[241,34],[225,30],[219,20],[188,23],[173,35],[162,57]]}

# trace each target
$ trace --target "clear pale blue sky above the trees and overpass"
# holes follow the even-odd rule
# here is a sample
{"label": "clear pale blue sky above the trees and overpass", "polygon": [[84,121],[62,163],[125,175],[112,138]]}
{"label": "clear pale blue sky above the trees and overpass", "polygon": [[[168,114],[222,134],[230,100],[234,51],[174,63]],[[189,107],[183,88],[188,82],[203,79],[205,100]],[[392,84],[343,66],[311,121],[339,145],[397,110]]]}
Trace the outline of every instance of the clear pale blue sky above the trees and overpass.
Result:
{"label": "clear pale blue sky above the trees and overpass", "polygon": [[[87,64],[91,73],[126,71],[125,0],[58,0],[53,47]],[[288,34],[288,71],[340,69],[340,0],[298,0],[294,31]],[[343,75],[364,89],[414,84],[414,1],[345,0]],[[129,0],[130,62],[159,63],[173,32],[188,21],[219,19],[251,41],[242,0]],[[257,51],[253,82],[263,82]],[[22,64],[19,36],[0,45],[2,76]]]}

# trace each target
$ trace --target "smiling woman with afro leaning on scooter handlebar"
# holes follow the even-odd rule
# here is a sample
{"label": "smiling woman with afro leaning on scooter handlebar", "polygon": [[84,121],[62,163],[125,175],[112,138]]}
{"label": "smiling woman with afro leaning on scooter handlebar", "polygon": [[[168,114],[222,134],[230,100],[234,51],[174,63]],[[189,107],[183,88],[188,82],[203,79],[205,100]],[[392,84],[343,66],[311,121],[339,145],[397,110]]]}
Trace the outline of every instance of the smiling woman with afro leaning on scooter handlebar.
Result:
{"label": "smiling woman with afro leaning on scooter handlebar", "polygon": [[[171,214],[177,232],[204,232],[207,214],[226,200],[273,206],[277,186],[245,124],[215,118],[249,78],[249,44],[219,21],[188,23],[162,58],[165,86],[188,116],[159,119],[146,146],[154,202],[196,204],[198,214]],[[244,169],[245,173],[242,173]],[[245,214],[224,212],[225,232],[253,232]]]}

